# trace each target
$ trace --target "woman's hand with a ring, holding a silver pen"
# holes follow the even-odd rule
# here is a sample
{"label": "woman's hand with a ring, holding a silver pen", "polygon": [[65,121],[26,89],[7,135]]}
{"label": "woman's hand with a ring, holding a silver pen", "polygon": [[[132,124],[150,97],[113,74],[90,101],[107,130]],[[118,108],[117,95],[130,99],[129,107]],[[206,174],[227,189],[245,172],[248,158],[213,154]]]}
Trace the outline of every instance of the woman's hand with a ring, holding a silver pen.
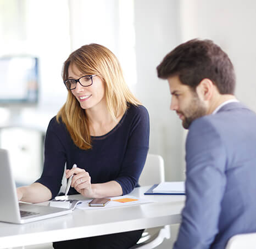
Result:
{"label": "woman's hand with a ring, holding a silver pen", "polygon": [[85,169],[81,168],[72,168],[66,170],[66,178],[71,177],[74,174],[74,177],[71,182],[71,187],[82,194],[85,197],[95,197],[94,191],[92,189],[91,177]]}

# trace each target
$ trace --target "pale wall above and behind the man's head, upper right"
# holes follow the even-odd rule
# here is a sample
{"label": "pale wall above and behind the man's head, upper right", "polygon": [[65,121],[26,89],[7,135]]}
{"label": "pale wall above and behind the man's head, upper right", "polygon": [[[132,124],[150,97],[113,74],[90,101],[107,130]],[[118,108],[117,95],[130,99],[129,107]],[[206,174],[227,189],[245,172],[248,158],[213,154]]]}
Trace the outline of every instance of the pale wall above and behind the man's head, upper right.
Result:
{"label": "pale wall above and behind the man's head, upper right", "polygon": [[256,2],[182,0],[182,41],[208,38],[225,50],[235,66],[236,96],[256,110]]}

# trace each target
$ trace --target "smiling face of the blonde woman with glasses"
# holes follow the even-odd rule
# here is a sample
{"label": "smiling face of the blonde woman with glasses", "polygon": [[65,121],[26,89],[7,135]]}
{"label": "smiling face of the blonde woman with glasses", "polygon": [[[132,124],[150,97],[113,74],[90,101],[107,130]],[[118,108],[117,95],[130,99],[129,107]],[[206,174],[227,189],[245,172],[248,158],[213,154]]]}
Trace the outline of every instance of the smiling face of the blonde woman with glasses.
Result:
{"label": "smiling face of the blonde woman with glasses", "polygon": [[[70,64],[68,68],[69,79],[77,80],[83,73],[77,69],[76,65]],[[96,107],[106,106],[105,103],[105,83],[98,76],[92,77],[92,85],[83,87],[79,82],[76,83],[76,88],[71,90],[71,93],[79,101],[82,109],[95,109]]]}

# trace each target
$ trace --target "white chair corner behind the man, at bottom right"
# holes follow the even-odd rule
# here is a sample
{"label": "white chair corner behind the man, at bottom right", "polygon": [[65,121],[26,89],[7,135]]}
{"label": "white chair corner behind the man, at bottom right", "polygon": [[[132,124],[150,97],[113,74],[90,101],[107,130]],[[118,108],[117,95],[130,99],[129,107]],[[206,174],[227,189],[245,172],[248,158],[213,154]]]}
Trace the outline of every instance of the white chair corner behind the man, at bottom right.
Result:
{"label": "white chair corner behind the man, at bottom right", "polygon": [[226,249],[255,249],[256,233],[237,234],[230,238],[227,242]]}

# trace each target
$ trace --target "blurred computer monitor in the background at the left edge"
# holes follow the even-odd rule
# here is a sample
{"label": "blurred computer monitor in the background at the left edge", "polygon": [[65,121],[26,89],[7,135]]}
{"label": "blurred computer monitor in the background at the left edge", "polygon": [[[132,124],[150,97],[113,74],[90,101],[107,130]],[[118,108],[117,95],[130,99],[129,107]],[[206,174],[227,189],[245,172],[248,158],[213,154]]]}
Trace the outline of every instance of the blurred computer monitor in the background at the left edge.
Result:
{"label": "blurred computer monitor in the background at the left edge", "polygon": [[0,58],[0,106],[36,105],[38,84],[36,57],[4,56]]}

